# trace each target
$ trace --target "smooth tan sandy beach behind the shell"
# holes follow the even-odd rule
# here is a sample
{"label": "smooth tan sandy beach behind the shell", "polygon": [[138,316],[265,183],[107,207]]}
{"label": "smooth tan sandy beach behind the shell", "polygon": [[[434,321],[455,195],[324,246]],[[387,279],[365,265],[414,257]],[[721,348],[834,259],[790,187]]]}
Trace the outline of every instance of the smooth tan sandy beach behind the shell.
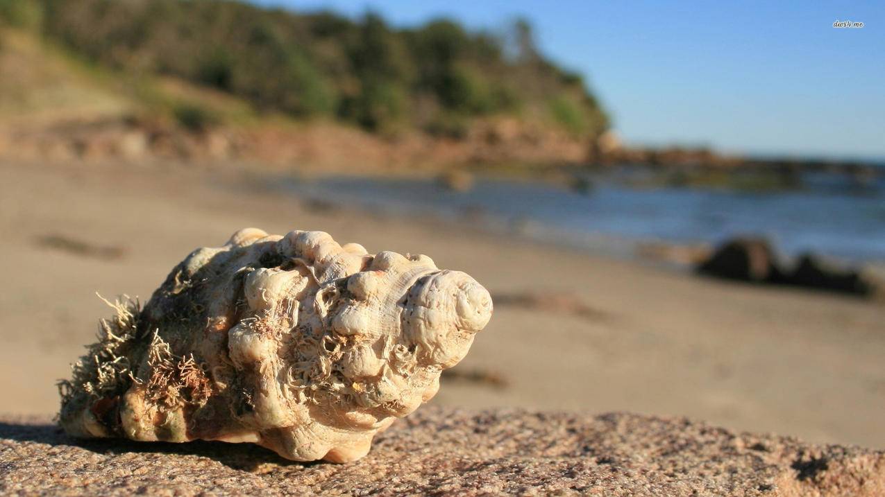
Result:
{"label": "smooth tan sandy beach behind the shell", "polygon": [[[55,382],[109,314],[235,230],[322,230],[467,271],[495,315],[432,401],[627,410],[885,447],[885,306],[702,279],[268,193],[234,167],[0,163],[0,411],[51,415]],[[550,305],[544,296],[553,295]],[[541,305],[535,305],[541,302]]]}

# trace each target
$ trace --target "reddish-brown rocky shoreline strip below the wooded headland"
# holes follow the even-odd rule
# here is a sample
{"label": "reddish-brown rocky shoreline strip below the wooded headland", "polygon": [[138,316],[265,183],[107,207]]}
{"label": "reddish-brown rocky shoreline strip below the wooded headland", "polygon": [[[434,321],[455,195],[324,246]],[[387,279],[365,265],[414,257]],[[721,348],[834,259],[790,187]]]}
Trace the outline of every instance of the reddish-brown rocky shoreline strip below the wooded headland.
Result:
{"label": "reddish-brown rocky shoreline strip below the wooded headland", "polygon": [[566,185],[581,174],[637,165],[681,175],[681,180],[686,175],[690,180],[691,175],[763,173],[786,187],[810,172],[839,175],[860,185],[885,178],[885,157],[763,156],[680,145],[644,147],[621,143],[611,131],[576,137],[520,126],[513,119],[479,119],[471,133],[451,138],[418,130],[386,136],[327,119],[279,116],[250,124],[191,129],[159,116],[122,110],[84,118],[13,113],[0,120],[0,157],[247,163],[266,171],[299,164],[309,174],[332,171],[370,176],[434,176],[458,170]]}

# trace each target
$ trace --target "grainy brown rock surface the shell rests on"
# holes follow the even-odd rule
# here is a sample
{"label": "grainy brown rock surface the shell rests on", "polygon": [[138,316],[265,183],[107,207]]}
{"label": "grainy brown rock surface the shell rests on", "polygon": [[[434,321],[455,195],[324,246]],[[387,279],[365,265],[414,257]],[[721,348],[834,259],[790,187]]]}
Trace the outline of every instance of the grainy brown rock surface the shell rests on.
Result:
{"label": "grainy brown rock surface the shell rests on", "polygon": [[684,418],[425,406],[357,463],[293,463],[250,444],[73,440],[5,417],[0,493],[885,495],[885,452]]}

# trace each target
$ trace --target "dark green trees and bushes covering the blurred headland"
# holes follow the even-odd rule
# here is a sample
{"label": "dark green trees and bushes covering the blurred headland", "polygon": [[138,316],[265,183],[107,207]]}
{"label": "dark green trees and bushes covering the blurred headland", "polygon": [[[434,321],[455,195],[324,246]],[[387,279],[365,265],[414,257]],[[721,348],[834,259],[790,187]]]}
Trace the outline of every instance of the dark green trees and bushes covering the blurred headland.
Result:
{"label": "dark green trees and bushes covering the blurred headland", "polygon": [[[510,116],[592,137],[608,126],[581,76],[545,59],[525,21],[506,36],[438,19],[400,29],[369,13],[293,13],[212,0],[0,0],[0,25],[39,30],[77,57],[138,79],[173,76],[258,112],[395,134],[464,136]],[[180,105],[202,128],[217,117]]]}

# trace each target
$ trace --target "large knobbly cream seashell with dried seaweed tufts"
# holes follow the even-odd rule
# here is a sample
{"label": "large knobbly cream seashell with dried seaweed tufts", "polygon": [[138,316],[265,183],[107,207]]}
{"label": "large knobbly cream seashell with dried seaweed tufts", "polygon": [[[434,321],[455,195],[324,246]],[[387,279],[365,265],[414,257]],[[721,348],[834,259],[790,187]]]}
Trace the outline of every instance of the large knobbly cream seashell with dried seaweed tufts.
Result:
{"label": "large knobbly cream seashell with dried seaweed tufts", "polygon": [[433,397],[492,313],[485,288],[427,256],[255,228],[196,249],[143,310],[113,305],[60,383],[66,432],[331,462]]}

